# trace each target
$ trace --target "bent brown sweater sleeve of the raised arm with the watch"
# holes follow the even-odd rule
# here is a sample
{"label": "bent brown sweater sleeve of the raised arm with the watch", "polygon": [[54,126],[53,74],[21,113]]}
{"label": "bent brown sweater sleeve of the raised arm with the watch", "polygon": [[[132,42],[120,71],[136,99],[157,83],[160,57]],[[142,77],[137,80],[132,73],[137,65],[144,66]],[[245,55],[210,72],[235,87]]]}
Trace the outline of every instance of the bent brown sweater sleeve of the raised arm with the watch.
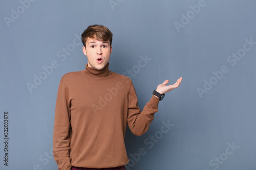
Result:
{"label": "bent brown sweater sleeve of the raised arm with the watch", "polygon": [[159,98],[152,95],[151,100],[146,103],[143,111],[138,107],[137,94],[131,81],[128,94],[128,115],[127,125],[133,134],[140,136],[148,130],[154,119],[154,114],[158,111]]}

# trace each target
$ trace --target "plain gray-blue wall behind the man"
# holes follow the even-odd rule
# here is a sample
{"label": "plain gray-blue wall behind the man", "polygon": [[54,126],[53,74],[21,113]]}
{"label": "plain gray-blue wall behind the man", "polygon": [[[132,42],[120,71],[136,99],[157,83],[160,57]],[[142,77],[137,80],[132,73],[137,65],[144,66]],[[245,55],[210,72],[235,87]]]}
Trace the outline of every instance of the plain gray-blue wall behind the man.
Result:
{"label": "plain gray-blue wall behind the man", "polygon": [[158,84],[183,77],[145,134],[126,131],[126,169],[256,169],[256,1],[21,0],[0,9],[0,169],[57,169],[59,80],[85,68],[78,38],[95,23],[114,34],[110,70],[132,71],[141,109]]}

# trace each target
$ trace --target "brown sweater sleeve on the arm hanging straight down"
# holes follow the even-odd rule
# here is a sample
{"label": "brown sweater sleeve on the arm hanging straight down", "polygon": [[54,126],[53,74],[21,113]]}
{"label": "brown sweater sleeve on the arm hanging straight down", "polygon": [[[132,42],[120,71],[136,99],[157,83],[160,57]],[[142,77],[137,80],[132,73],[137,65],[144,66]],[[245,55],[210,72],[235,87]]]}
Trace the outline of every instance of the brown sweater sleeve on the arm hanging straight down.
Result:
{"label": "brown sweater sleeve on the arm hanging straight down", "polygon": [[59,83],[53,130],[53,155],[58,170],[70,170],[70,102],[69,89]]}

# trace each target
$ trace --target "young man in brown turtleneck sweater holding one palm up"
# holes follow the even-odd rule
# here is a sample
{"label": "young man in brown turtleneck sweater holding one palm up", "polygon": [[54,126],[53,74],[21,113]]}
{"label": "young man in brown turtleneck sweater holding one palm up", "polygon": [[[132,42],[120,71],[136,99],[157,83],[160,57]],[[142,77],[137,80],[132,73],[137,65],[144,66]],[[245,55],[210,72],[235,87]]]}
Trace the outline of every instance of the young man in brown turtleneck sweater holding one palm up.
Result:
{"label": "young man in brown turtleneck sweater holding one palm up", "polygon": [[131,79],[109,70],[112,33],[100,25],[81,35],[86,69],[69,72],[59,84],[53,132],[54,159],[61,170],[125,169],[126,125],[142,135],[158,111],[164,93],[177,88],[168,80],[157,86],[143,111]]}

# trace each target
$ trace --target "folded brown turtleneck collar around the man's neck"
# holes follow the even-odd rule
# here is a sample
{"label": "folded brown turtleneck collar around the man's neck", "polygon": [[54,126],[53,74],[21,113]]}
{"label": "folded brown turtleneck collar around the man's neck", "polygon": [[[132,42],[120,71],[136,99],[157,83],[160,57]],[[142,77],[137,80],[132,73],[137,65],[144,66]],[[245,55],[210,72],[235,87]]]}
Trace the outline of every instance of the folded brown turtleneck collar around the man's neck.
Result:
{"label": "folded brown turtleneck collar around the man's neck", "polygon": [[87,63],[84,72],[91,77],[107,77],[110,75],[111,72],[109,70],[109,65],[110,63],[108,62],[108,64],[106,64],[106,66],[102,70],[97,70],[93,67],[89,67]]}

